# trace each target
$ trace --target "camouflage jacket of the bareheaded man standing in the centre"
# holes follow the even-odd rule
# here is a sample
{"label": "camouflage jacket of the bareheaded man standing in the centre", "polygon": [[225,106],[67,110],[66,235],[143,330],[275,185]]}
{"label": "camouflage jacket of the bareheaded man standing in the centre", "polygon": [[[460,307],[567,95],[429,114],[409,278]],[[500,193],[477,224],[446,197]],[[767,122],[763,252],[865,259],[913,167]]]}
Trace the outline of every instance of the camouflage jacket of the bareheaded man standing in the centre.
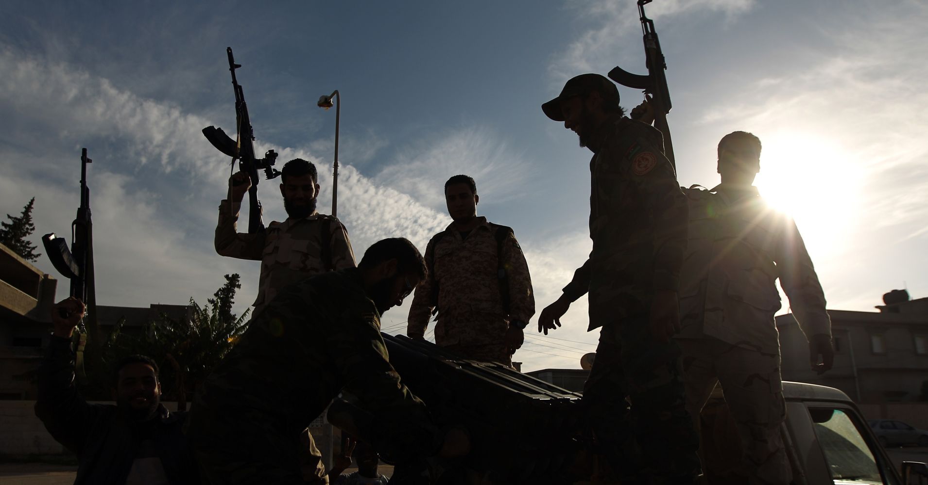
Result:
{"label": "camouflage jacket of the bareheaded man standing in the centre", "polygon": [[[509,364],[503,339],[509,321],[527,322],[535,315],[535,296],[525,255],[514,234],[502,242],[497,255],[496,224],[478,218],[480,225],[467,238],[448,226],[443,237],[435,238],[425,249],[426,261],[432,261],[428,278],[416,288],[406,333],[421,337],[432,316],[432,289],[438,284],[438,321],[435,343],[462,356]],[[503,309],[500,280],[497,276],[502,259],[509,280],[509,314]]]}

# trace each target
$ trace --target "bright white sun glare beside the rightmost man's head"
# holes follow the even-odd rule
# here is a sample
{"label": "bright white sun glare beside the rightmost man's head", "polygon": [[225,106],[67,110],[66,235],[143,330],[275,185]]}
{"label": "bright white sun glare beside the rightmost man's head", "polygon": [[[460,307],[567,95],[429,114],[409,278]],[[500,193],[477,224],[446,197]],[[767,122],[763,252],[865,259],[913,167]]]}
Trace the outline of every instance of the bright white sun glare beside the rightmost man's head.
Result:
{"label": "bright white sun glare beside the rightmost man's head", "polygon": [[859,211],[862,170],[837,143],[804,134],[764,137],[755,185],[792,216],[813,254],[840,253]]}

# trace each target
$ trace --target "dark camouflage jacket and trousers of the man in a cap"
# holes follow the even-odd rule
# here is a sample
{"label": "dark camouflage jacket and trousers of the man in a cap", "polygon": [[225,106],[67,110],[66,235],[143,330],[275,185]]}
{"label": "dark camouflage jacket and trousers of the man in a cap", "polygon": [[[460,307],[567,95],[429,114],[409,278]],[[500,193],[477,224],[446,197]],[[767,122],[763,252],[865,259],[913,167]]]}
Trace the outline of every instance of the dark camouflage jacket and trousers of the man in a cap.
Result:
{"label": "dark camouflage jacket and trousers of the man in a cap", "polygon": [[[698,440],[685,408],[675,342],[651,336],[652,295],[677,291],[686,247],[686,199],[660,131],[613,116],[587,143],[593,251],[564,295],[589,292],[589,330],[602,327],[584,388],[589,417],[613,471],[687,480]],[[625,401],[629,397],[632,405]]]}

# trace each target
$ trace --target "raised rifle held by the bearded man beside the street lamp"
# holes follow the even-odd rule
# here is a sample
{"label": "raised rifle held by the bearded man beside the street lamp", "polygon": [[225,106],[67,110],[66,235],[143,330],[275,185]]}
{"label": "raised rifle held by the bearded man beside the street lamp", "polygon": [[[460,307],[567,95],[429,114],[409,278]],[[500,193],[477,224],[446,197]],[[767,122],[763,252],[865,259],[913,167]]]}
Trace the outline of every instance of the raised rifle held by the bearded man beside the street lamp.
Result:
{"label": "raised rifle held by the bearded man beside the street lamp", "polygon": [[[261,221],[261,202],[258,200],[258,170],[264,170],[264,176],[271,180],[280,175],[280,172],[274,168],[274,162],[277,161],[277,152],[268,150],[264,153],[264,158],[254,157],[254,131],[251,129],[251,118],[248,116],[248,106],[245,104],[245,94],[241,91],[241,86],[235,78],[235,69],[240,68],[241,64],[235,63],[235,57],[232,56],[232,47],[226,47],[226,54],[229,57],[229,72],[232,73],[232,88],[235,91],[235,117],[238,125],[238,134],[236,140],[232,140],[221,128],[208,126],[203,129],[203,135],[213,143],[220,152],[231,156],[232,163],[238,160],[238,169],[248,173],[251,179],[251,188],[248,190],[249,208],[248,208],[248,232],[255,233],[264,230],[264,223]],[[229,201],[232,204],[232,201]]]}

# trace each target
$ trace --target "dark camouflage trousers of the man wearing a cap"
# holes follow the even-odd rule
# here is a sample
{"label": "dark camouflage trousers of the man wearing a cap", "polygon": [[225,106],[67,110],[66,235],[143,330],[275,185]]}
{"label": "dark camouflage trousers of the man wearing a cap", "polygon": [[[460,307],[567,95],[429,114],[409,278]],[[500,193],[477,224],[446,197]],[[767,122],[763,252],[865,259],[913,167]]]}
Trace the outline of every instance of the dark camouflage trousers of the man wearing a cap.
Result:
{"label": "dark camouflage trousers of the man wearing a cap", "polygon": [[599,333],[584,386],[588,427],[622,483],[693,483],[699,439],[687,413],[679,350],[656,342],[648,317],[629,317]]}

